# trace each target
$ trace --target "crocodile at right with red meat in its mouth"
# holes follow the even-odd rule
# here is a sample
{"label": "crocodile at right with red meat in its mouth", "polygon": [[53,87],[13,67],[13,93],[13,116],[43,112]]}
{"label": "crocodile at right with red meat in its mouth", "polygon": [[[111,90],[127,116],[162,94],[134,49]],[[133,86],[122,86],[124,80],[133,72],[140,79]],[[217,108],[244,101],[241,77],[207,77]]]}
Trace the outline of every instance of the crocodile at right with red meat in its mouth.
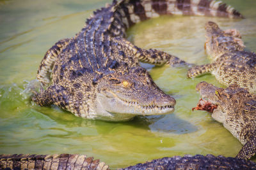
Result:
{"label": "crocodile at right with red meat in its mouth", "polygon": [[[238,85],[226,89],[202,81],[196,85],[205,103],[217,107],[211,116],[236,137],[243,148],[236,158],[250,159],[256,153],[256,96]],[[202,104],[202,101],[200,101]]]}

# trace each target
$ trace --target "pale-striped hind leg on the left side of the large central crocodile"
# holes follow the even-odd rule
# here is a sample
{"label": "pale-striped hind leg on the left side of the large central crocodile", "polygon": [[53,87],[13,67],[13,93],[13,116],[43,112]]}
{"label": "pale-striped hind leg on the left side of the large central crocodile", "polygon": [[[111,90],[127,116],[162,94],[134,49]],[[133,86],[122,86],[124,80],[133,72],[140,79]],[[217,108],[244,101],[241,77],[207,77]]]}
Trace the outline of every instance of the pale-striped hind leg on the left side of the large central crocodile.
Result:
{"label": "pale-striped hind leg on the left side of the large central crocodile", "polygon": [[44,87],[49,85],[51,82],[51,69],[54,61],[56,60],[56,57],[61,52],[61,49],[68,45],[69,41],[70,39],[61,39],[45,53],[44,59],[41,61],[36,75],[36,78],[42,82]]}

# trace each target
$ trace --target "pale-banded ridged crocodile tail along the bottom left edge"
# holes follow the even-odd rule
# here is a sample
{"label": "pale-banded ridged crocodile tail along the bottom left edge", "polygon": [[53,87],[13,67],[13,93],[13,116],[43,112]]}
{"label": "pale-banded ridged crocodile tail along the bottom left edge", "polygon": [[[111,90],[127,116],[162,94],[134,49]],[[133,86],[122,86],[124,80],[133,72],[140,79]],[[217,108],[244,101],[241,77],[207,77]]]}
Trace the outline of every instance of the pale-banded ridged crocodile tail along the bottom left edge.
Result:
{"label": "pale-banded ridged crocodile tail along the bottom left edge", "polygon": [[0,155],[0,169],[100,169],[109,167],[98,159],[77,154]]}

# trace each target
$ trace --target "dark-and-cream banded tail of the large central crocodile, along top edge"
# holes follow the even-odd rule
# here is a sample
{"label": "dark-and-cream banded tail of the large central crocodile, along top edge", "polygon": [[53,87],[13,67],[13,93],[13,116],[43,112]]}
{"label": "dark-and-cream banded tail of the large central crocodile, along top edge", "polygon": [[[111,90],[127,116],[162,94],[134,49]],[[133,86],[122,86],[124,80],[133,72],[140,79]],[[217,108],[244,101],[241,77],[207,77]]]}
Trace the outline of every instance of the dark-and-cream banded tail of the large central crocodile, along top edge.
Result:
{"label": "dark-and-cream banded tail of the large central crocodile, along top edge", "polygon": [[126,28],[159,15],[243,18],[243,15],[231,6],[215,0],[123,0],[114,1],[113,8],[114,15],[119,15],[118,20],[122,20]]}

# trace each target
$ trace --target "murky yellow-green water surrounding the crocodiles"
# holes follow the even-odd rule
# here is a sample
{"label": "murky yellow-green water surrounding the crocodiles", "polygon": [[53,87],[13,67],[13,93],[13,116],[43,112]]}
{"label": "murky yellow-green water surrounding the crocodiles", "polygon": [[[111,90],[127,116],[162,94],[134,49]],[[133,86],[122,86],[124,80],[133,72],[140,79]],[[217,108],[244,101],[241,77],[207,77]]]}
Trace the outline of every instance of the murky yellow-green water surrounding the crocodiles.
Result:
{"label": "murky yellow-green water surrounding the crocodiles", "polygon": [[[132,27],[128,39],[142,48],[157,48],[196,64],[209,62],[204,52],[204,24],[241,31],[248,50],[256,51],[256,1],[228,0],[244,20],[164,16]],[[242,145],[205,111],[191,111],[199,95],[195,85],[210,74],[186,78],[186,67],[143,64],[164,92],[177,100],[175,113],[138,117],[130,122],[84,120],[52,106],[30,103],[22,95],[35,79],[44,53],[56,41],[80,31],[85,18],[106,1],[0,1],[0,153],[86,153],[125,167],[173,155],[234,157]]]}

